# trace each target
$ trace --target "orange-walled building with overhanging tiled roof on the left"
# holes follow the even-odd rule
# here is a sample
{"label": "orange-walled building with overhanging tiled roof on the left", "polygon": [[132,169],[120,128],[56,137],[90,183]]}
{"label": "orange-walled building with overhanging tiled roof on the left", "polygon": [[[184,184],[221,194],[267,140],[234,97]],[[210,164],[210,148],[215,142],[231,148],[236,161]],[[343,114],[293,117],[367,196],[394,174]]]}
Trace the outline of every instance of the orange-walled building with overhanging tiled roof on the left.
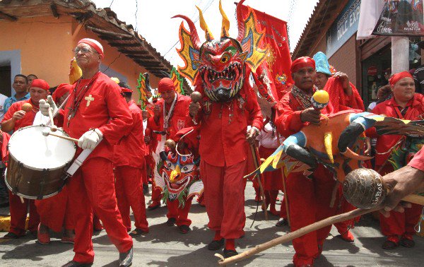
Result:
{"label": "orange-walled building with overhanging tiled roof on the left", "polygon": [[85,37],[100,41],[105,51],[100,70],[129,83],[134,99],[139,99],[140,73],[150,73],[155,88],[161,71],[172,69],[131,25],[88,0],[0,1],[0,36],[0,93],[7,96],[14,93],[11,83],[19,73],[33,73],[52,87],[69,83],[73,49]]}

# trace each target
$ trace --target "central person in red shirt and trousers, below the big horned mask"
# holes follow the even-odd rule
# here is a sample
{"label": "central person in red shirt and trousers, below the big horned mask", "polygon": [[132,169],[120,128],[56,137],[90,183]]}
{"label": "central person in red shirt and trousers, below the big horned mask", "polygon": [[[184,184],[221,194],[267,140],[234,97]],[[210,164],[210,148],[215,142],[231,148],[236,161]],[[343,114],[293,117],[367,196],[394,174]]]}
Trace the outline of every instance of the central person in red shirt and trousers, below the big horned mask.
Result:
{"label": "central person in red shirt and trousers, below the big horned mask", "polygon": [[[208,227],[215,231],[208,249],[223,247],[224,256],[234,256],[235,239],[245,235],[245,185],[248,143],[263,127],[261,109],[249,83],[228,102],[214,102],[206,97],[201,77],[196,90],[203,96],[190,104],[190,116],[200,124],[200,177],[204,182],[204,201]],[[191,118],[190,118],[191,119]],[[247,125],[252,125],[247,133]]]}

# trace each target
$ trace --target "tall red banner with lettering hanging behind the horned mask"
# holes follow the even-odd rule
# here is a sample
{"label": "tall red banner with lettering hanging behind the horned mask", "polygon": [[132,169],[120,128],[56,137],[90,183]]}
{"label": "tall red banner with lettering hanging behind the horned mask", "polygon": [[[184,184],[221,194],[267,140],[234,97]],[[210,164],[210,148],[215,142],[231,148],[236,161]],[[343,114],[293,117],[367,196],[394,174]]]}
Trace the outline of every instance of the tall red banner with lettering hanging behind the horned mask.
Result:
{"label": "tall red banner with lettering hanging behind the horned mask", "polygon": [[[257,11],[254,8],[252,9],[257,16],[257,22],[261,30],[265,28],[265,37],[263,39],[265,43],[263,47],[269,45],[269,54],[264,64],[261,64],[261,68],[257,69],[255,80],[259,76],[263,76],[264,70],[268,70],[267,74],[272,82],[271,86],[275,87],[277,93],[277,96],[273,96],[273,98],[280,100],[288,86],[293,84],[290,73],[291,57],[288,47],[287,23],[284,20]],[[241,6],[240,11],[242,13],[240,17],[246,18],[248,7]]]}

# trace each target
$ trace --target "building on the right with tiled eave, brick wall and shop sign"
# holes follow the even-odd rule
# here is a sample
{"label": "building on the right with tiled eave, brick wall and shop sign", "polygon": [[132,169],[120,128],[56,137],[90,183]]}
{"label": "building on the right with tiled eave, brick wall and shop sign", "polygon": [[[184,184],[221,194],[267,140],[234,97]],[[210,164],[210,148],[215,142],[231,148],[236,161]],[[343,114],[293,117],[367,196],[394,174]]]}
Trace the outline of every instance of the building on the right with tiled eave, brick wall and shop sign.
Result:
{"label": "building on the right with tiled eave, brick wall and shop sign", "polygon": [[[356,40],[361,0],[320,0],[314,8],[293,59],[312,57],[321,51],[329,64],[349,76],[358,88],[365,107],[377,100],[377,89],[386,85],[391,67],[391,37]],[[410,38],[409,69],[421,64],[420,38]]]}

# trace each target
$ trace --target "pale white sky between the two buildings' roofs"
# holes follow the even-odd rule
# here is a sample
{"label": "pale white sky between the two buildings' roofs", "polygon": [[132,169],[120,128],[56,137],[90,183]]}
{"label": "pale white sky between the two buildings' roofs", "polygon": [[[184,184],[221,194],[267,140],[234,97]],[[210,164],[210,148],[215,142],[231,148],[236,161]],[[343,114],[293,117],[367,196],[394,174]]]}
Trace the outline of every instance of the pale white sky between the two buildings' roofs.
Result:
{"label": "pale white sky between the two buildings' roofs", "polygon": [[[133,25],[134,29],[174,66],[183,66],[183,61],[176,51],[176,48],[180,47],[178,28],[182,19],[171,18],[172,16],[181,14],[192,18],[203,42],[204,32],[199,26],[199,12],[195,7],[197,5],[203,11],[213,35],[220,35],[222,17],[218,9],[219,0],[92,1],[98,8],[112,8],[119,20],[125,21],[127,25]],[[234,2],[234,0],[222,0],[223,10],[230,19],[231,37],[237,37]],[[293,51],[317,2],[318,0],[247,0],[244,4],[288,22],[290,51]]]}

